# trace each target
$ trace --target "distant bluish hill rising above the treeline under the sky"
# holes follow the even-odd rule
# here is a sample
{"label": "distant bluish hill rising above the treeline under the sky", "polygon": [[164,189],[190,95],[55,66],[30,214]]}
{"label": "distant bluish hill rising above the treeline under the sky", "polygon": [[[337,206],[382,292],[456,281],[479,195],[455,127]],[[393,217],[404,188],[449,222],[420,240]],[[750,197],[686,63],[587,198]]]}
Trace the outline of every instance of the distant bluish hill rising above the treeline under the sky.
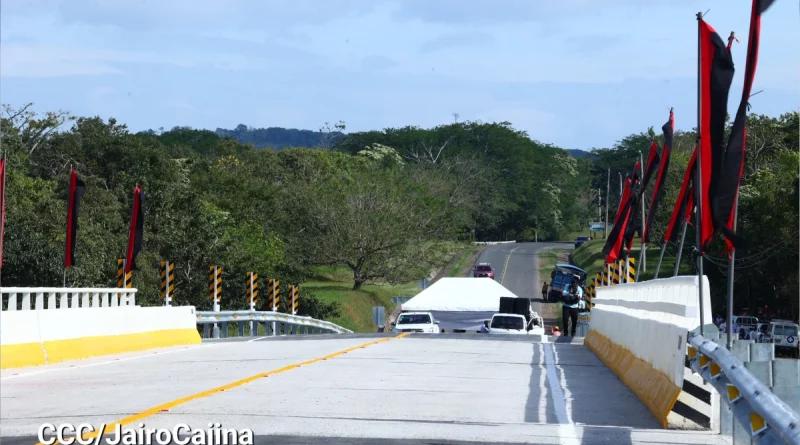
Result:
{"label": "distant bluish hill rising above the treeline under the sky", "polygon": [[252,128],[244,124],[237,125],[233,130],[217,128],[214,132],[223,138],[231,137],[243,144],[253,144],[256,148],[272,149],[321,147],[344,137],[344,133],[338,131],[324,133],[282,127]]}

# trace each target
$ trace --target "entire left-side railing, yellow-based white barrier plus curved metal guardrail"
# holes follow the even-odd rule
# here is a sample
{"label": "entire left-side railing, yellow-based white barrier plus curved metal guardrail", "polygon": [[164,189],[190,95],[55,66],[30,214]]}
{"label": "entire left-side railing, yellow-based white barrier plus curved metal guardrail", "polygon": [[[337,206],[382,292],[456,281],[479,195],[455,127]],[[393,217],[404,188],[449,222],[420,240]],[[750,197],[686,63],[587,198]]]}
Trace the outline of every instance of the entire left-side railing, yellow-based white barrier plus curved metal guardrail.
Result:
{"label": "entire left-side railing, yellow-based white barrier plus curved metal guardrail", "polygon": [[[95,356],[201,342],[200,329],[263,323],[276,335],[351,333],[333,323],[277,312],[199,312],[194,306],[136,305],[132,288],[3,287],[0,368],[59,363]],[[218,335],[217,335],[218,336]]]}

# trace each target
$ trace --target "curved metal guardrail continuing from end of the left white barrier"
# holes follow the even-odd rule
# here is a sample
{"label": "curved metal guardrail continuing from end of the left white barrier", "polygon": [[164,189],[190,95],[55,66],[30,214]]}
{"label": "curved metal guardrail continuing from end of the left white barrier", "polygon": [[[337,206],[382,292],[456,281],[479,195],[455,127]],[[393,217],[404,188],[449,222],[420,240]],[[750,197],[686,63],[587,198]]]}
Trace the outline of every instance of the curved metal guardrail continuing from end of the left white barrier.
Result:
{"label": "curved metal guardrail continuing from end of the left white barrier", "polygon": [[[337,324],[329,321],[317,320],[311,317],[303,317],[300,315],[283,314],[280,312],[271,311],[198,311],[197,324],[202,325],[216,325],[217,323],[225,324],[236,323],[239,325],[240,335],[243,335],[244,324],[257,322],[257,323],[281,323],[289,326],[302,326],[306,329],[318,329],[322,331],[329,331],[337,334],[352,334],[353,331],[345,329]],[[225,330],[223,329],[223,332]],[[251,331],[252,332],[252,331]],[[273,333],[275,331],[273,330]],[[224,334],[223,334],[224,335]],[[219,332],[214,330],[214,338],[219,338]]]}

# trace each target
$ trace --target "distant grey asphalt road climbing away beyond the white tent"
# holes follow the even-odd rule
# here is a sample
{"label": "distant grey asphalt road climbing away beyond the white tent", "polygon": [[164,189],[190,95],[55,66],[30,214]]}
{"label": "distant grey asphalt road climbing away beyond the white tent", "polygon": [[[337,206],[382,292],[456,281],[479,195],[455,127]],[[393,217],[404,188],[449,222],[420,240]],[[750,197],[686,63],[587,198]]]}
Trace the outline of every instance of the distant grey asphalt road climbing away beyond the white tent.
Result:
{"label": "distant grey asphalt road climbing away beyond the white tent", "polygon": [[[537,257],[552,249],[572,250],[572,243],[516,243],[489,246],[478,261],[491,263],[495,268],[495,280],[518,297],[533,300],[533,310],[544,318],[549,329],[561,314],[555,303],[542,301],[542,281],[539,277]],[[549,281],[549,277],[546,277]]]}

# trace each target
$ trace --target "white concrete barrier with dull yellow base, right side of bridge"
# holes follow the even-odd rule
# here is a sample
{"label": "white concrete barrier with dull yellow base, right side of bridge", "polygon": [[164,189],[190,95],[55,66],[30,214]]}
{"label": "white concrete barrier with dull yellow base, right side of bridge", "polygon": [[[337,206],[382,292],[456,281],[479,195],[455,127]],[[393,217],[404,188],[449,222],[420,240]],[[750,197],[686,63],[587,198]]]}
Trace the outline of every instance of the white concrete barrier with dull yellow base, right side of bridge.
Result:
{"label": "white concrete barrier with dull yellow base, right side of bridge", "polygon": [[[700,326],[693,276],[598,287],[585,344],[667,427],[683,385],[687,334]],[[704,317],[711,323],[708,278]]]}

